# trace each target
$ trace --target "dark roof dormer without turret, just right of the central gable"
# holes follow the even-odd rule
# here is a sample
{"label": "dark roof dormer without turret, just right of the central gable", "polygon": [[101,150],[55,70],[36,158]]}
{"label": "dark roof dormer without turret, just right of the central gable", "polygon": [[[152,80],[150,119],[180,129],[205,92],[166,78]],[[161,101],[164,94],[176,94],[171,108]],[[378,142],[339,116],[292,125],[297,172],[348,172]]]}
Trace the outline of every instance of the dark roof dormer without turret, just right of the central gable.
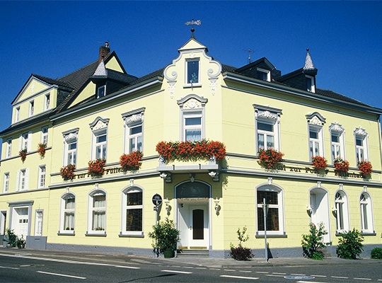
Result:
{"label": "dark roof dormer without turret, just right of the central gable", "polygon": [[249,76],[254,79],[260,79],[262,81],[272,81],[281,76],[281,71],[265,57],[256,60],[250,64],[247,64],[239,69],[235,70],[237,73]]}

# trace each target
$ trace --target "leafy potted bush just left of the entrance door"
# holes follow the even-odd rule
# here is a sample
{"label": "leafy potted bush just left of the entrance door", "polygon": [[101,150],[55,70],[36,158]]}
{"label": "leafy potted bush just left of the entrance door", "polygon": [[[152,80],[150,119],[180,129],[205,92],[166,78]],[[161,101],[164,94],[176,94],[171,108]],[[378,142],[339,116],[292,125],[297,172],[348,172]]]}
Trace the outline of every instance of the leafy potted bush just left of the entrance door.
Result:
{"label": "leafy potted bush just left of the entrance door", "polygon": [[165,219],[160,221],[157,226],[153,225],[149,238],[153,239],[153,247],[158,248],[165,258],[173,258],[176,246],[180,241],[180,231],[175,228],[174,221]]}

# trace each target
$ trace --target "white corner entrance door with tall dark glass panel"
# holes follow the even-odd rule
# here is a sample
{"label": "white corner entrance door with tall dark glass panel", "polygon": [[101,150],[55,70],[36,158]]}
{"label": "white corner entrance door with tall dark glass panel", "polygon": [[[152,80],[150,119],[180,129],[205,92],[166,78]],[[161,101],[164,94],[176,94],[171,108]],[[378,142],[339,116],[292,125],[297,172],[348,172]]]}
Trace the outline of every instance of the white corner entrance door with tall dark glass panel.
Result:
{"label": "white corner entrance door with tall dark glass panel", "polygon": [[189,246],[208,246],[208,206],[190,206],[190,236]]}

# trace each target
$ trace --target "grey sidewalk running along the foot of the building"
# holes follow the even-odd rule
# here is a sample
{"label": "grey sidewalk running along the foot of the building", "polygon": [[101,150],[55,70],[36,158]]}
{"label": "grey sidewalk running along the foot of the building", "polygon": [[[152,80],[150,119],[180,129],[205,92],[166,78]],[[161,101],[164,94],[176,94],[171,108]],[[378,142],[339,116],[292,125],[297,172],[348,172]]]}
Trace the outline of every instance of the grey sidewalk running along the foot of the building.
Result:
{"label": "grey sidewalk running along the foot of the building", "polygon": [[380,263],[382,260],[374,260],[371,258],[364,258],[361,260],[344,260],[342,258],[324,258],[323,260],[310,260],[308,258],[270,258],[268,262],[265,259],[255,258],[248,261],[207,258],[207,257],[194,257],[194,256],[180,256],[178,258],[151,258],[139,255],[122,255],[122,254],[108,254],[108,253],[83,253],[83,252],[69,252],[62,250],[33,250],[33,249],[18,249],[18,248],[0,248],[0,255],[18,255],[18,256],[32,256],[42,258],[59,258],[62,260],[78,260],[86,262],[113,262],[113,263],[133,263],[133,264],[157,264],[157,265],[175,265],[182,262],[183,264],[196,265],[199,267],[215,267],[215,268],[229,268],[229,267],[272,267],[272,266],[307,266],[307,265],[364,265],[370,263]]}

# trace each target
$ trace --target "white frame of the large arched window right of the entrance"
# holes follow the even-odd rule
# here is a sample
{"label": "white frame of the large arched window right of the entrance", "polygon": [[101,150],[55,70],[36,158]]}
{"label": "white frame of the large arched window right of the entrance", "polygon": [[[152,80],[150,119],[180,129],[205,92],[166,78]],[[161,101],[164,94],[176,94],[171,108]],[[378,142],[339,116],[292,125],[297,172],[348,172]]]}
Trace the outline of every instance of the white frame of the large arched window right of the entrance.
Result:
{"label": "white frame of the large arched window right of the entrance", "polygon": [[[269,204],[268,207],[272,209],[278,209],[279,214],[279,230],[277,231],[268,231],[267,235],[270,236],[284,236],[285,235],[285,219],[284,219],[284,190],[282,187],[279,187],[278,185],[268,185],[268,184],[261,184],[256,187],[255,194],[256,194],[256,235],[257,236],[264,236],[265,231],[259,230],[259,223],[258,223],[258,213],[257,209],[263,209],[264,204],[262,204],[263,200],[257,200],[257,192],[258,191],[266,191],[266,192],[276,192],[277,193],[277,204]],[[270,216],[270,212],[268,210],[267,219]]]}

